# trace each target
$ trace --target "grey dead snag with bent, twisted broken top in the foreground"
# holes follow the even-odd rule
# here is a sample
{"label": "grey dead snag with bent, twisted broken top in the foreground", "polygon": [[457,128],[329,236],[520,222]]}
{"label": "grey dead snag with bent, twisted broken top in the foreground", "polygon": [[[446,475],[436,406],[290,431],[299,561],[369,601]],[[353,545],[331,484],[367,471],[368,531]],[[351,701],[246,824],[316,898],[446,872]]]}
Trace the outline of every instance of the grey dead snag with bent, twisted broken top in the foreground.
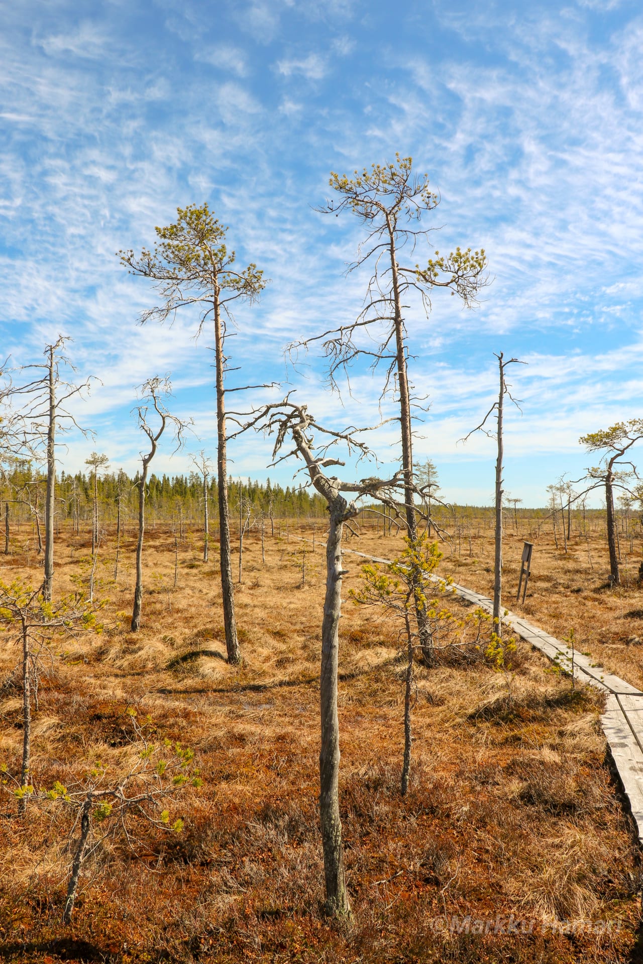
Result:
{"label": "grey dead snag with bent, twisted broken top in the foreground", "polygon": [[[350,915],[350,904],[344,878],[344,857],[339,818],[339,723],[337,718],[337,660],[338,627],[341,615],[341,581],[345,575],[341,558],[341,542],[344,523],[354,519],[359,509],[355,501],[348,501],[342,493],[357,497],[367,495],[379,498],[382,492],[401,483],[401,473],[384,481],[366,478],[359,482],[342,482],[329,476],[324,469],[344,463],[329,457],[332,445],[343,442],[349,453],[357,451],[362,457],[368,454],[363,442],[356,438],[356,431],[333,432],[323,428],[307,406],[295,405],[289,397],[279,404],[269,405],[247,422],[242,430],[251,425],[263,428],[268,434],[276,434],[273,450],[276,459],[286,438],[294,448],[282,455],[277,462],[290,456],[304,461],[311,485],[326,499],[329,512],[329,531],[326,542],[326,593],[322,621],[322,655],[320,670],[320,716],[321,747],[319,753],[319,812],[321,818],[322,845],[324,851],[324,874],[326,881],[326,909],[335,917]],[[322,437],[315,442],[313,433]],[[276,465],[274,462],[273,465]]]}

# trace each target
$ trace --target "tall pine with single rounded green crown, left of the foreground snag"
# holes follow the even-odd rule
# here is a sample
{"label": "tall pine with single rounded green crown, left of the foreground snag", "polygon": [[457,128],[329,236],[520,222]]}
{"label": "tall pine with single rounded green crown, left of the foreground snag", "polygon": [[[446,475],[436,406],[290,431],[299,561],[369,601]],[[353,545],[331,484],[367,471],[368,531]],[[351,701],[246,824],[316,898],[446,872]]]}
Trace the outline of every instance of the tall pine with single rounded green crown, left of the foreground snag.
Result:
{"label": "tall pine with single rounded green crown, left of the foreground snag", "polygon": [[228,228],[215,218],[206,203],[189,204],[176,209],[176,221],[166,228],[155,228],[158,238],[153,252],[143,249],[140,256],[121,251],[121,264],[134,275],[149,278],[162,298],[161,305],[141,315],[142,324],[154,319],[173,319],[179,308],[200,309],[197,337],[206,324],[213,325],[217,394],[217,483],[219,498],[219,551],[221,588],[226,630],[228,662],[241,659],[234,615],[234,585],[230,552],[228,509],[228,433],[226,427],[226,392],[269,386],[228,388],[226,375],[227,323],[232,303],[255,302],[265,287],[263,272],[254,263],[237,268],[235,254],[228,252]]}

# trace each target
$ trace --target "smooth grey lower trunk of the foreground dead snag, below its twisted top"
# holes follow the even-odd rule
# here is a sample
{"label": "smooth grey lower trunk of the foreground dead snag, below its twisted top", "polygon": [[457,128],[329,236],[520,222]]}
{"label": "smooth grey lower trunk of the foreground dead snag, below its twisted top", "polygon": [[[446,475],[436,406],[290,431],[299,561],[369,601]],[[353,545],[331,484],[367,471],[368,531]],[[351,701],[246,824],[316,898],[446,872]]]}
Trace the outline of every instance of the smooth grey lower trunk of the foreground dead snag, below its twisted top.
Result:
{"label": "smooth grey lower trunk of the foreground dead snag, below its twisted top", "polygon": [[[341,499],[343,502],[343,499]],[[321,749],[319,753],[319,813],[324,848],[327,911],[350,914],[344,879],[344,855],[339,819],[339,722],[337,719],[338,627],[341,613],[341,536],[343,522],[331,507],[326,544],[326,598],[322,622],[320,677]]]}

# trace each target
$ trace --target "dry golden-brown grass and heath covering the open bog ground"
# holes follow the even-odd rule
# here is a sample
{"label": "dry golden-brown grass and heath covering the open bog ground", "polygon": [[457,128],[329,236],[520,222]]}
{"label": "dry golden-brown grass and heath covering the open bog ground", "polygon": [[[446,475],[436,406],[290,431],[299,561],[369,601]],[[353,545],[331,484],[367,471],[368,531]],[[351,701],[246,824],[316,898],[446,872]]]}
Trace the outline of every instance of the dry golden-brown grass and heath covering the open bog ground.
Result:
{"label": "dry golden-brown grass and heath covering the open bog ground", "polygon": [[[289,544],[266,539],[265,566],[258,539],[248,538],[236,594],[243,665],[235,669],[223,658],[216,566],[200,561],[198,537],[181,546],[174,592],[172,539],[160,529],[148,536],[143,628],[130,633],[127,618],[116,625],[116,614],[128,614],[131,605],[129,539],[118,585],[110,584],[108,567],[103,573],[101,592],[112,600],[105,632],[70,642],[42,683],[35,779],[69,781],[97,757],[118,767],[128,752],[125,710],[136,706],[150,714],[159,736],[195,748],[204,786],[185,798],[181,835],[163,843],[149,834],[138,855],[115,844],[94,860],[69,928],[60,924],[69,859],[64,827],[36,808],[22,823],[13,801],[3,804],[1,954],[123,964],[638,959],[638,854],[605,762],[599,695],[573,693],[524,644],[511,705],[502,675],[483,662],[418,668],[412,783],[402,799],[396,629],[348,602],[340,801],[354,919],[343,927],[327,921],[316,812],[323,550],[309,557],[302,589],[293,537]],[[384,555],[395,549],[394,540],[369,534],[360,543],[349,545]],[[58,592],[76,571],[71,549],[67,541],[58,546]],[[109,557],[109,543],[105,551]],[[475,551],[479,562],[456,557],[442,572],[489,591],[488,540]],[[76,561],[86,552],[73,546]],[[583,649],[590,649],[590,634],[604,649],[595,639],[594,610],[584,610],[571,592],[580,576],[565,595],[571,554],[551,555],[547,570],[545,554],[539,542],[528,599],[534,619],[557,633],[574,626]],[[357,584],[360,562],[347,560],[348,589]],[[0,557],[0,577],[27,575],[24,559],[8,561]],[[507,563],[511,585],[511,546]],[[555,597],[546,571],[559,580]],[[36,581],[40,570],[32,565],[28,575]],[[626,592],[597,592],[601,625],[610,625],[606,612]],[[625,606],[643,609],[640,595]],[[538,611],[536,619],[541,600],[559,617],[545,611],[541,619]],[[16,657],[4,650],[0,680]],[[11,687],[3,696],[0,753],[14,765],[19,704]],[[511,913],[622,925],[603,937],[516,937],[443,934],[431,924],[444,915],[495,920]]]}

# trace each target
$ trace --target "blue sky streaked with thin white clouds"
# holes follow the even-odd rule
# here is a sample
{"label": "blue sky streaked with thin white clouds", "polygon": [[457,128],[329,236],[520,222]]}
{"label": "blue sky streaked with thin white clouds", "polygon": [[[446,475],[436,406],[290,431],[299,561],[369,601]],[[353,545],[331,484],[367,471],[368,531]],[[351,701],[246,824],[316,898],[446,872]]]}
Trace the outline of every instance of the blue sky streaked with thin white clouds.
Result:
{"label": "blue sky streaked with thin white clouds", "polygon": [[[491,499],[494,442],[458,440],[491,404],[494,352],[528,362],[513,371],[505,473],[525,504],[591,464],[579,435],[641,414],[639,4],[20,0],[0,10],[0,90],[0,354],[32,362],[71,335],[79,375],[102,380],[79,410],[96,442],[70,436],[65,468],[95,447],[133,470],[134,387],[166,372],[196,420],[189,448],[214,454],[207,338],[195,344],[188,315],[137,326],[154,293],[115,256],[190,202],[208,201],[239,261],[271,279],[236,314],[239,377],[287,379],[335,424],[372,422],[378,376],[355,371],[349,417],[323,364],[294,373],[282,349],[360,310],[364,278],[344,271],[362,229],[313,206],[331,170],[395,151],[440,192],[435,246],[484,247],[493,276],[474,311],[438,295],[428,318],[407,312],[431,401],[415,454],[445,495]],[[393,433],[374,443],[389,461]],[[158,470],[188,468],[170,452]],[[270,474],[260,439],[230,456],[235,475]]]}

